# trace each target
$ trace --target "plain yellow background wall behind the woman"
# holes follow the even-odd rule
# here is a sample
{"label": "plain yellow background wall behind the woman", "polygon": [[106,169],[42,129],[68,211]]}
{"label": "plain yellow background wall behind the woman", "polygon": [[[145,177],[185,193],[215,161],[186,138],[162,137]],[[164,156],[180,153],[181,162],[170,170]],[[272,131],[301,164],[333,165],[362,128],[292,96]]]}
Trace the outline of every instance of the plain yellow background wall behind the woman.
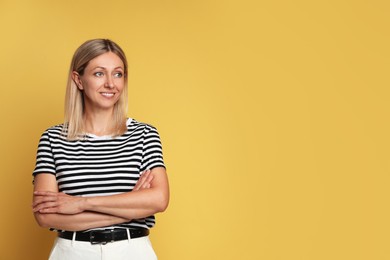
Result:
{"label": "plain yellow background wall behind the woman", "polygon": [[390,259],[390,4],[0,1],[1,259],[46,259],[31,214],[39,136],[71,56],[118,42],[129,116],[163,141],[161,260]]}

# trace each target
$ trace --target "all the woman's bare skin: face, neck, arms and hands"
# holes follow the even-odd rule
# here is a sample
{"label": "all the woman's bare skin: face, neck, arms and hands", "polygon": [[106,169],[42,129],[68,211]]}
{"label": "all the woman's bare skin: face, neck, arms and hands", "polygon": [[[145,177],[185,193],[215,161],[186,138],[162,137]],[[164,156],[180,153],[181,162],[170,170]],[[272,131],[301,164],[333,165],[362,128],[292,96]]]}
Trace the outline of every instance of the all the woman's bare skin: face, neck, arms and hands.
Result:
{"label": "all the woman's bare skin: face, neck, arms and hands", "polygon": [[[110,123],[114,104],[125,85],[123,62],[108,52],[91,60],[83,75],[73,72],[72,76],[84,92],[86,132],[109,134],[113,129]],[[163,167],[156,167],[142,173],[133,191],[96,197],[59,192],[54,175],[38,174],[34,180],[32,210],[42,227],[80,231],[163,212],[168,203],[168,177]]]}

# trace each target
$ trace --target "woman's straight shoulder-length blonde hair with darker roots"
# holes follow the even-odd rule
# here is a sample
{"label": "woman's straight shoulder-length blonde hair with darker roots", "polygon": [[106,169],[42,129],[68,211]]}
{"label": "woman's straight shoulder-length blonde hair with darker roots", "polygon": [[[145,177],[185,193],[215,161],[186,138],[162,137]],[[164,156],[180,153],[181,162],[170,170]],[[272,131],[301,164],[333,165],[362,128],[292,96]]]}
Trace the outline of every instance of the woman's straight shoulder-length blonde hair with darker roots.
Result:
{"label": "woman's straight shoulder-length blonde hair with darker roots", "polygon": [[74,53],[69,69],[68,83],[65,95],[65,122],[63,134],[68,140],[80,139],[84,131],[84,100],[83,92],[78,89],[72,78],[75,71],[80,76],[83,75],[89,61],[107,52],[118,55],[124,65],[125,86],[118,102],[114,105],[114,126],[113,135],[118,136],[126,132],[127,117],[127,60],[123,50],[109,39],[93,39],[83,43]]}

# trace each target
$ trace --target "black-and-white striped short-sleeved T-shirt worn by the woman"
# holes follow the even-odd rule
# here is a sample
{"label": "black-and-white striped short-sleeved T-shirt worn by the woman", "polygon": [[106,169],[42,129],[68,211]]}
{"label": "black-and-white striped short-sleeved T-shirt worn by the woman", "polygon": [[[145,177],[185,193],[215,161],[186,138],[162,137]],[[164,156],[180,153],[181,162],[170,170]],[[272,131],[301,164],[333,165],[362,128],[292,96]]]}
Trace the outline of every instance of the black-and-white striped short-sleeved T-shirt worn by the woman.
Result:
{"label": "black-and-white striped short-sleeved T-shirt worn by the woman", "polygon": [[[60,192],[73,196],[104,196],[132,191],[140,174],[164,167],[159,134],[151,125],[127,120],[121,136],[86,134],[68,141],[62,134],[63,124],[47,129],[38,145],[33,175],[56,176]],[[151,228],[154,216],[132,220],[112,227]]]}

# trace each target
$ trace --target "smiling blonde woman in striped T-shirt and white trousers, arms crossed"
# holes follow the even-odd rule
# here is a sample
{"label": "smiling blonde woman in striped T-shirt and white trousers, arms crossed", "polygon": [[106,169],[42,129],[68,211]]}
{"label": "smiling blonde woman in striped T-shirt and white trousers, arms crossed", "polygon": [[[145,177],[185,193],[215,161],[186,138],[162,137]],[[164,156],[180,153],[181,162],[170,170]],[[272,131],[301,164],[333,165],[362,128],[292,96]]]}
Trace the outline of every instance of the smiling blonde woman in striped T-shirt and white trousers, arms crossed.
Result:
{"label": "smiling blonde woman in striped T-shirt and white trousers, arms crossed", "polygon": [[127,61],[111,40],[75,52],[65,123],[40,139],[33,212],[58,232],[49,259],[156,259],[148,234],[169,201],[157,130],[126,117]]}

